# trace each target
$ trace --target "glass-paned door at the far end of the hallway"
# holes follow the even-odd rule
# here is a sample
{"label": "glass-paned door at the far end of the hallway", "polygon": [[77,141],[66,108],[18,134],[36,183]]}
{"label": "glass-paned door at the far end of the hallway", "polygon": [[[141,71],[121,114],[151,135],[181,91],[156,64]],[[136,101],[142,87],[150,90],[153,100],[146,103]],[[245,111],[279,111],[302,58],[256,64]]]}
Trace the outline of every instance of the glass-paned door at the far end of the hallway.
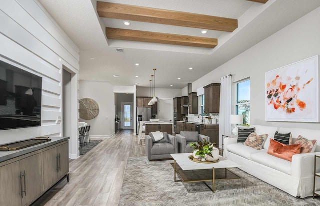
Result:
{"label": "glass-paned door at the far end of the hallway", "polygon": [[132,102],[121,102],[121,126],[124,130],[133,129],[133,104]]}

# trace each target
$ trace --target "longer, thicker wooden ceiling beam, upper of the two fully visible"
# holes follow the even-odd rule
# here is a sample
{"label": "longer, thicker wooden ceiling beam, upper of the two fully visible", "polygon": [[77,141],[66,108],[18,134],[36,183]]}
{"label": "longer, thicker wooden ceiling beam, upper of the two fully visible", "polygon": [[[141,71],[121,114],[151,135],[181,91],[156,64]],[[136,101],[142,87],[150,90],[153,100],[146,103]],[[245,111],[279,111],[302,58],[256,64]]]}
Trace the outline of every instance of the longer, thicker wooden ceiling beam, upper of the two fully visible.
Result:
{"label": "longer, thicker wooden ceiling beam, upper of the two fully visible", "polygon": [[116,18],[149,23],[160,23],[202,29],[232,32],[237,28],[237,19],[149,8],[120,3],[96,2],[100,17]]}

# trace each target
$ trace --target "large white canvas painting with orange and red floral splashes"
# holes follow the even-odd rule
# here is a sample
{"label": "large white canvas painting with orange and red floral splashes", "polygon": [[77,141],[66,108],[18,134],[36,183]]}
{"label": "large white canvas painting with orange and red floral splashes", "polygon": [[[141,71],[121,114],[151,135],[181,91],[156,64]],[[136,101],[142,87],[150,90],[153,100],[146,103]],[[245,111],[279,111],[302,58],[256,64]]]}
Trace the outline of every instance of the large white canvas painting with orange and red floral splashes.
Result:
{"label": "large white canvas painting with orange and red floral splashes", "polygon": [[318,122],[318,56],[265,73],[265,120]]}

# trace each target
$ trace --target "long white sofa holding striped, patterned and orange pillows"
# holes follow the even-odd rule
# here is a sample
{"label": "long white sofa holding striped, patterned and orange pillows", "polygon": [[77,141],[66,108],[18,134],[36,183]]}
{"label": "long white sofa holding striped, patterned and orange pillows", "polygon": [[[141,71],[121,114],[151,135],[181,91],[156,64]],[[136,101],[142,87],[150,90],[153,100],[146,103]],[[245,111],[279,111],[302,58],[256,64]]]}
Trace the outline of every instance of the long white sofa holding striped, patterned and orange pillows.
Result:
{"label": "long white sofa holding striped, patterned and orange pillows", "polygon": [[[241,165],[239,169],[290,194],[294,197],[305,198],[313,195],[314,155],[320,155],[320,130],[299,128],[269,127],[250,125],[255,127],[255,133],[268,134],[268,138],[261,150],[253,149],[240,143],[237,138],[224,138],[223,156]],[[274,133],[291,132],[293,144],[301,135],[306,139],[315,139],[316,148],[313,153],[292,156],[292,162],[267,154],[270,138]],[[316,172],[320,172],[320,161],[316,164]],[[315,181],[316,190],[320,189],[320,180]]]}

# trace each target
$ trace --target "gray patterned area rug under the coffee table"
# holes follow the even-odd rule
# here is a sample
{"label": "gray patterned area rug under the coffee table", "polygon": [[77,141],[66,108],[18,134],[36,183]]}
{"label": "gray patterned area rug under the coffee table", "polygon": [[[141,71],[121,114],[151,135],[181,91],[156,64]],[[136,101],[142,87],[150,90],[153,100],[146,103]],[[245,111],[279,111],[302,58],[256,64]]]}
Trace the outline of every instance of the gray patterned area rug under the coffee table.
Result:
{"label": "gray patterned area rug under the coffee table", "polygon": [[[118,205],[320,206],[320,200],[294,198],[237,168],[230,170],[241,178],[215,182],[215,193],[201,182],[174,182],[171,162],[149,162],[146,157],[129,157]],[[211,186],[212,182],[207,184]]]}

